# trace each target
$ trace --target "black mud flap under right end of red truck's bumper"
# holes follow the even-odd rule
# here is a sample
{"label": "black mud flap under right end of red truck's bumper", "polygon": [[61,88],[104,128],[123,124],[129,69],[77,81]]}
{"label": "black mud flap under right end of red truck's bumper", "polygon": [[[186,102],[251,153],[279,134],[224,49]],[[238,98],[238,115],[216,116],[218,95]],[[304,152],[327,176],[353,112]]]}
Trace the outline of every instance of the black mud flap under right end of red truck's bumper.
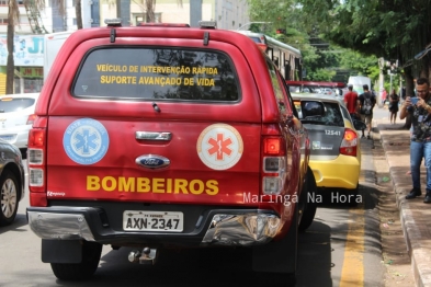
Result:
{"label": "black mud flap under right end of red truck's bumper", "polygon": [[295,276],[297,261],[298,206],[286,236],[262,246],[254,246],[252,268],[256,272],[288,274]]}

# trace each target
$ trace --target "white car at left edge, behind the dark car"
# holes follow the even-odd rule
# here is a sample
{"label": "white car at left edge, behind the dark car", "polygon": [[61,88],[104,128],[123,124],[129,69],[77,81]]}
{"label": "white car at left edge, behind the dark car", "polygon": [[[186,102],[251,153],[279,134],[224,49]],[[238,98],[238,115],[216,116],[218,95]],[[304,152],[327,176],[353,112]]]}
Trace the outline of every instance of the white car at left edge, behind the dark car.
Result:
{"label": "white car at left edge, behind the dark car", "polygon": [[0,139],[26,149],[29,130],[35,118],[34,108],[39,93],[0,96]]}

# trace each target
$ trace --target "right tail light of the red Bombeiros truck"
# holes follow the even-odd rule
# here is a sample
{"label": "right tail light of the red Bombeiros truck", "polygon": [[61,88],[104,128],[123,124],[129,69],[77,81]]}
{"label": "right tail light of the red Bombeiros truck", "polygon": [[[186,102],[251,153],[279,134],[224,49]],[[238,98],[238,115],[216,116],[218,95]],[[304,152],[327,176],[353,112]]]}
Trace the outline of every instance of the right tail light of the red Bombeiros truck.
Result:
{"label": "right tail light of the red Bombeiros truck", "polygon": [[263,138],[263,195],[277,195],[283,191],[286,173],[285,142],[282,137]]}

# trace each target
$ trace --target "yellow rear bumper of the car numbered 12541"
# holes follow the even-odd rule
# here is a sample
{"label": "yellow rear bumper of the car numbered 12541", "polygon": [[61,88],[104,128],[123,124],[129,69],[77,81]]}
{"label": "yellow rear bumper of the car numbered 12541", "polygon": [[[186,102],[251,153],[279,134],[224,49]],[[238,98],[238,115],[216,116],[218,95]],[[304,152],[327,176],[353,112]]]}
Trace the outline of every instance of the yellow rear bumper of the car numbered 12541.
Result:
{"label": "yellow rear bumper of the car numbered 12541", "polygon": [[334,160],[310,160],[309,165],[318,187],[354,190],[361,174],[361,162],[355,157],[339,156]]}

